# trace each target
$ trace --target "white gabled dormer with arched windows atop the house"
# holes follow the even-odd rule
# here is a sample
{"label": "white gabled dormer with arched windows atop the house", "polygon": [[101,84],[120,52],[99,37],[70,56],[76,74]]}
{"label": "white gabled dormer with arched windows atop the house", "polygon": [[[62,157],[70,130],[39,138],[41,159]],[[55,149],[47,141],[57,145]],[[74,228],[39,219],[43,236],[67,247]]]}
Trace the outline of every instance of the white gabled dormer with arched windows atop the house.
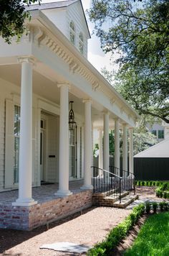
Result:
{"label": "white gabled dormer with arched windows atop the house", "polygon": [[81,0],[57,1],[40,6],[35,4],[26,9],[41,10],[72,45],[87,58],[87,40],[90,38],[90,31]]}

